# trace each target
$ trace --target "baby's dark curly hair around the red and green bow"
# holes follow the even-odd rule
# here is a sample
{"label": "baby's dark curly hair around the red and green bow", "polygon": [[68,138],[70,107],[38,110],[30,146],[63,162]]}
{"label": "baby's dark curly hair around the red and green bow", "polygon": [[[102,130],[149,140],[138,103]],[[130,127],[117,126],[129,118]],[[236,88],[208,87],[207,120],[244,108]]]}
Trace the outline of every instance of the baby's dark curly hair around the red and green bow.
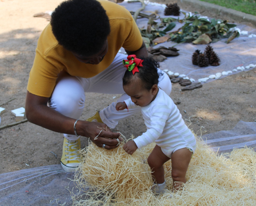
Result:
{"label": "baby's dark curly hair around the red and green bow", "polygon": [[161,71],[158,72],[159,62],[155,61],[152,57],[139,57],[143,59],[143,66],[138,66],[139,72],[135,72],[134,75],[132,71],[126,70],[123,77],[123,86],[132,83],[135,78],[139,78],[143,87],[150,90],[154,84],[158,85],[159,77],[163,75]]}

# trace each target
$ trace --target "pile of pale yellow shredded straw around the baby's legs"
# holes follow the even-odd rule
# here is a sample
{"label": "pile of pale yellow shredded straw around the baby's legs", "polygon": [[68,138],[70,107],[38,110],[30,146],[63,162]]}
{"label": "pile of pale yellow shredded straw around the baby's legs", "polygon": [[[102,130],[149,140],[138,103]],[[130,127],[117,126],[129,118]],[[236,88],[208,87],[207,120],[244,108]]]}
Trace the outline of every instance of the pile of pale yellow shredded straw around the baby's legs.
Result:
{"label": "pile of pale yellow shredded straw around the baby's legs", "polygon": [[145,161],[154,144],[138,149],[132,156],[123,148],[112,151],[90,144],[82,150],[82,164],[75,182],[79,194],[74,205],[104,206],[217,206],[256,205],[256,153],[252,148],[235,149],[216,155],[197,141],[197,149],[182,191],[172,193],[171,161],[165,164],[168,191],[155,196],[150,167]]}

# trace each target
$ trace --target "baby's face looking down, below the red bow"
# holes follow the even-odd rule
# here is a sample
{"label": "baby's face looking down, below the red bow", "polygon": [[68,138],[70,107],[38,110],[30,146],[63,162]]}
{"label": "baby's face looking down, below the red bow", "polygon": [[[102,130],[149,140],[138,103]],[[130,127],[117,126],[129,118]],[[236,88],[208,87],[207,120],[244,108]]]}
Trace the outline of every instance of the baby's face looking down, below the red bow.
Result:
{"label": "baby's face looking down, below the red bow", "polygon": [[123,88],[125,93],[131,97],[132,102],[138,106],[147,106],[156,95],[155,92],[153,94],[152,89],[149,91],[145,89],[138,78],[133,83],[123,86]]}

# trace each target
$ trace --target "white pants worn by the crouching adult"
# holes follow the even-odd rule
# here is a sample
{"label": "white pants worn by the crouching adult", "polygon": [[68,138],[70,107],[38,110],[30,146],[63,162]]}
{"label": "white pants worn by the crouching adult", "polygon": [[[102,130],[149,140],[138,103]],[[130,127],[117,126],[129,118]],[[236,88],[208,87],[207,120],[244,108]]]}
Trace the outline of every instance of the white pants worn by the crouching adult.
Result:
{"label": "white pants worn by the crouching adult", "polygon": [[[129,98],[123,90],[123,76],[127,70],[123,66],[123,59],[127,59],[127,55],[118,53],[107,69],[92,78],[73,77],[61,73],[57,78],[48,106],[67,117],[79,119],[84,108],[85,92],[123,94],[116,102],[99,112],[103,123],[109,128],[115,128],[119,120],[140,112],[139,107],[129,109],[129,112],[116,110],[117,102],[123,102]],[[162,73],[164,72],[162,71]],[[158,86],[170,95],[172,84],[166,73],[159,78]],[[64,136],[69,140],[78,139],[75,135],[64,134]]]}

